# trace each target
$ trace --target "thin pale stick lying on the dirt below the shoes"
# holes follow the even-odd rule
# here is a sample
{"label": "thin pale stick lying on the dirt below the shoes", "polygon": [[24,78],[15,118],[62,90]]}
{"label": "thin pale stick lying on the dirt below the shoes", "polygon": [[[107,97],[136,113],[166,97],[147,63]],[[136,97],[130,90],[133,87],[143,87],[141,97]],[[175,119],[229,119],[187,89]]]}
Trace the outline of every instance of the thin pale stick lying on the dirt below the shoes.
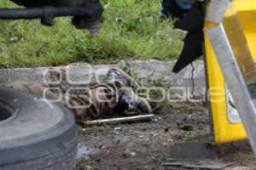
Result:
{"label": "thin pale stick lying on the dirt below the shoes", "polygon": [[128,116],[128,117],[120,117],[113,119],[102,119],[96,121],[85,121],[83,122],[85,125],[99,125],[104,123],[120,123],[120,122],[146,122],[152,121],[154,115],[143,115],[143,116]]}

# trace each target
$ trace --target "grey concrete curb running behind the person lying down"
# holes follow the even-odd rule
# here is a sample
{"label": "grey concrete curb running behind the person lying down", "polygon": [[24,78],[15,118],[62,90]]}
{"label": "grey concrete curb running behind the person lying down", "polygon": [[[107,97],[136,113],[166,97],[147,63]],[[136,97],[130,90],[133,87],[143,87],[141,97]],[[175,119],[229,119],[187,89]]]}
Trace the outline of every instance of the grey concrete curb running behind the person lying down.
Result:
{"label": "grey concrete curb running behind the person lying down", "polygon": [[[192,66],[189,65],[178,74],[172,73],[175,61],[162,62],[158,60],[132,61],[131,70],[144,82],[158,81],[161,85],[176,88],[188,88],[191,92],[193,87]],[[205,92],[206,81],[204,65],[202,61],[193,63],[195,95]],[[106,78],[108,69],[113,65],[88,65],[76,63],[67,66],[17,68],[0,70],[0,82],[35,82],[44,86],[61,85],[63,87],[88,86],[91,83],[101,82]]]}

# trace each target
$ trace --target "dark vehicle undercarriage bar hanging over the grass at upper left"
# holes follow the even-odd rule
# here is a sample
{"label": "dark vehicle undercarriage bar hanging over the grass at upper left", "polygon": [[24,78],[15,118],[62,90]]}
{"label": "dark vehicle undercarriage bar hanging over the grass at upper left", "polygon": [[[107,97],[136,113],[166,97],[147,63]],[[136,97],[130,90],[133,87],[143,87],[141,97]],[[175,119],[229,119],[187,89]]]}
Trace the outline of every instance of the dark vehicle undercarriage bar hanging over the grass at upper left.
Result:
{"label": "dark vehicle undercarriage bar hanging over the grass at upper left", "polygon": [[41,19],[53,26],[55,17],[73,16],[73,26],[88,29],[92,36],[102,26],[102,4],[99,0],[13,0],[26,8],[0,8],[0,20]]}

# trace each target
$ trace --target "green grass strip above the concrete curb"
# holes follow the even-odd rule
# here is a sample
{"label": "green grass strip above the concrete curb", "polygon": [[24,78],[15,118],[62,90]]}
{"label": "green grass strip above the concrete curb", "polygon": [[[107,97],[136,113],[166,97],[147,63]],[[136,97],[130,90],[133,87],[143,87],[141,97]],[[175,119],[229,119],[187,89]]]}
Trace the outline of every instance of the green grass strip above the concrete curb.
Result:
{"label": "green grass strip above the concrete curb", "polygon": [[[115,63],[119,59],[176,59],[183,32],[172,20],[160,20],[160,0],[103,0],[101,33],[91,38],[76,30],[71,18],[54,27],[39,20],[0,21],[0,66],[67,65],[72,62]],[[0,0],[1,7],[14,7]]]}

